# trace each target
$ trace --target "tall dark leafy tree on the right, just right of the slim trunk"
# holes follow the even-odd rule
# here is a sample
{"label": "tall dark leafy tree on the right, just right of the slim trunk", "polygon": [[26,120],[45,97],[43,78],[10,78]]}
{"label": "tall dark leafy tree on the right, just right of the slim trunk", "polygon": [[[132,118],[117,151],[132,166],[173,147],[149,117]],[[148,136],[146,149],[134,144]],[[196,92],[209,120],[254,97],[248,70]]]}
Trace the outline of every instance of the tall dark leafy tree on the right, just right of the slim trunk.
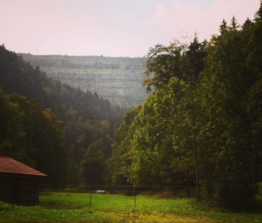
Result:
{"label": "tall dark leafy tree on the right, just right of the slim trunk", "polygon": [[251,146],[247,110],[254,76],[246,66],[250,31],[239,29],[235,18],[231,22],[231,26],[221,27],[221,34],[213,37],[207,49],[199,88],[205,117],[199,141],[205,148],[203,160],[209,161],[201,168],[205,196],[218,205],[241,209],[251,206],[257,192],[257,171],[251,170],[257,152]]}

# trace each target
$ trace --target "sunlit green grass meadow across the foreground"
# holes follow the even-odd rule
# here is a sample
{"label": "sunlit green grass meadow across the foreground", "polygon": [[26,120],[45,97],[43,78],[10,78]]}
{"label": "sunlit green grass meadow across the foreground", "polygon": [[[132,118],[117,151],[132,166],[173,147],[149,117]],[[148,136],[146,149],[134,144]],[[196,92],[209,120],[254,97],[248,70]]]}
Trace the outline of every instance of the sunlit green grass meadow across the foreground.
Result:
{"label": "sunlit green grass meadow across the foreground", "polygon": [[[59,196],[60,195],[60,196]],[[262,212],[256,214],[227,213],[209,209],[194,199],[164,199],[139,195],[71,193],[41,195],[39,206],[17,206],[0,202],[0,222],[262,222]]]}

